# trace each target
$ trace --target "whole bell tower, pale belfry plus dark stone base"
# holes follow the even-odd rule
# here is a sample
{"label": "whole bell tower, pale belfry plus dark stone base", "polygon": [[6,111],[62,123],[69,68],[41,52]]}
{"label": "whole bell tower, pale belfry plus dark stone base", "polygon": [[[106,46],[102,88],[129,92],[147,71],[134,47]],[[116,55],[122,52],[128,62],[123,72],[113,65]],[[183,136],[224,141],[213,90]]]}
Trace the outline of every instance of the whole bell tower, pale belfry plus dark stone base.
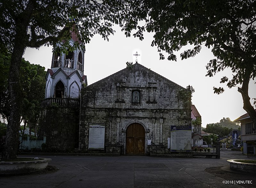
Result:
{"label": "whole bell tower, pale belfry plus dark stone base", "polygon": [[62,152],[79,147],[80,92],[83,84],[87,85],[85,48],[75,25],[70,35],[69,44],[74,50],[61,52],[63,43],[60,42],[52,54],[51,69],[45,77],[45,99],[41,103],[38,131],[39,137],[46,137],[48,148]]}

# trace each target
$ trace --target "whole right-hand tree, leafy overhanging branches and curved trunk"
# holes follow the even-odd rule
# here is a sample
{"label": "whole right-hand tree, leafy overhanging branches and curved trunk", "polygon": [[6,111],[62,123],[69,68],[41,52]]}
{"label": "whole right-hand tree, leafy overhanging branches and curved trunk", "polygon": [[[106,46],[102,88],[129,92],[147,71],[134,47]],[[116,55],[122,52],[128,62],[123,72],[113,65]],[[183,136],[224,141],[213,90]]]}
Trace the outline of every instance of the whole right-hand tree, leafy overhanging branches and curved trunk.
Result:
{"label": "whole right-hand tree, leafy overhanging branches and curved trunk", "polygon": [[[157,46],[160,59],[163,51],[168,60],[176,61],[174,51],[194,45],[180,54],[181,59],[194,57],[201,46],[212,50],[215,59],[207,64],[207,76],[231,68],[233,77],[224,76],[220,83],[229,88],[241,84],[244,110],[256,125],[256,112],[248,96],[248,84],[256,76],[256,1],[254,0],[171,0],[142,1],[139,18],[146,24],[138,26],[135,37],[155,32],[152,46]],[[139,11],[138,11],[139,12]],[[223,88],[213,88],[220,94]]]}

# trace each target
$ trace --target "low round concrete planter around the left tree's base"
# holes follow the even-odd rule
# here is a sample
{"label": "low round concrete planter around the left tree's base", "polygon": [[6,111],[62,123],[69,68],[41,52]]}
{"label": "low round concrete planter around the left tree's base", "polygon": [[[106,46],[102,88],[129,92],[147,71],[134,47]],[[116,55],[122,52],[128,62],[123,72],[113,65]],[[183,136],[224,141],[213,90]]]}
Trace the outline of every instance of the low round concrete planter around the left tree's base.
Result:
{"label": "low round concrete planter around the left tree's base", "polygon": [[23,174],[43,170],[47,167],[48,162],[52,161],[52,159],[49,158],[40,159],[41,160],[24,162],[0,162],[0,174]]}

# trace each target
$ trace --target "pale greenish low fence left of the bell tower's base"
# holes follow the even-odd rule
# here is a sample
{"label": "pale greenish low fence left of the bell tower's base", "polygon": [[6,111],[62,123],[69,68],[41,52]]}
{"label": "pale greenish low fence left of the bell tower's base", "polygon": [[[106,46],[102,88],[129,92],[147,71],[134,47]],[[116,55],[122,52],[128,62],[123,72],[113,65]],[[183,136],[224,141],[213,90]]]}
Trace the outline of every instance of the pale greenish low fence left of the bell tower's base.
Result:
{"label": "pale greenish low fence left of the bell tower's base", "polygon": [[30,137],[27,137],[26,139],[22,139],[20,137],[20,149],[28,149],[31,150],[31,148],[37,148],[37,149],[42,149],[42,144],[46,142],[46,137],[44,139],[31,139]]}

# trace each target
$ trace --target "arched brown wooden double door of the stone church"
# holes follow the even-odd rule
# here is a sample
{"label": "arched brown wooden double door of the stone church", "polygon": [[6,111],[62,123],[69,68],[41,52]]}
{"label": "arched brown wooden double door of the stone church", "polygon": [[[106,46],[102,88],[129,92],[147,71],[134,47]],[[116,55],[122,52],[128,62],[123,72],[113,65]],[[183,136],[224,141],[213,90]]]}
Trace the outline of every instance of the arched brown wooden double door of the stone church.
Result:
{"label": "arched brown wooden double door of the stone church", "polygon": [[145,129],[139,123],[126,129],[126,155],[145,155]]}

